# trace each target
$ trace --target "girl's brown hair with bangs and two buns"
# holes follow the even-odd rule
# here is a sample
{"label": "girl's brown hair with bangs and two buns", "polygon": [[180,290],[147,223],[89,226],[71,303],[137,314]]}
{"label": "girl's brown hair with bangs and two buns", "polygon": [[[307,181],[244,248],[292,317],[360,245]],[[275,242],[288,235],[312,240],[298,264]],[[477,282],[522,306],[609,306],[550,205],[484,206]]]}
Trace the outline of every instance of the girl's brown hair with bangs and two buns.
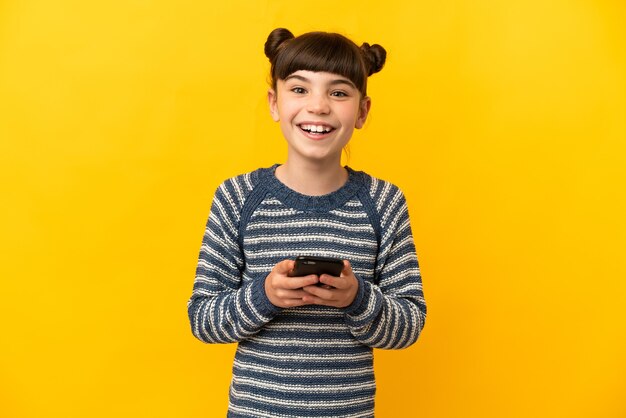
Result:
{"label": "girl's brown hair with bangs and two buns", "polygon": [[380,45],[364,43],[359,48],[338,33],[308,32],[294,37],[285,28],[274,29],[265,42],[269,58],[270,83],[276,90],[276,81],[284,80],[299,70],[324,71],[339,74],[354,83],[367,96],[367,77],[385,65],[387,52]]}

